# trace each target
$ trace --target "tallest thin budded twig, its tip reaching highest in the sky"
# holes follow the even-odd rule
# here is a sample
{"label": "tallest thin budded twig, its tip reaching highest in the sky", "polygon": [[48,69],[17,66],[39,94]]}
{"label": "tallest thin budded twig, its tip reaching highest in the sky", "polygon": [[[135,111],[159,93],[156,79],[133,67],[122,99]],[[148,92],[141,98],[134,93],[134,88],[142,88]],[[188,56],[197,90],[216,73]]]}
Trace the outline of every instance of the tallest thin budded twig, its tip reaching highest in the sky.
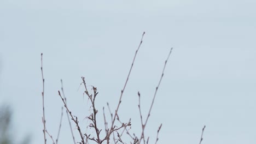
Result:
{"label": "tallest thin budded twig, its tip reaching highest in the sky", "polygon": [[125,81],[125,85],[124,85],[123,89],[121,90],[121,95],[120,95],[120,98],[119,98],[118,106],[117,106],[117,109],[115,109],[115,115],[114,115],[114,118],[113,118],[113,122],[112,122],[112,124],[111,124],[110,130],[109,130],[109,133],[108,133],[108,136],[107,136],[107,137],[108,137],[108,138],[107,138],[107,143],[109,143],[109,136],[110,136],[110,135],[112,134],[112,132],[113,132],[113,129],[114,129],[114,122],[115,122],[115,118],[117,117],[117,113],[118,113],[118,110],[119,110],[119,106],[120,106],[120,104],[121,104],[121,99],[122,99],[122,97],[123,97],[123,93],[124,93],[124,91],[125,91],[125,87],[126,87],[127,82],[128,82],[128,80],[129,80],[129,77],[130,77],[130,74],[131,74],[131,70],[132,70],[132,67],[133,67],[133,63],[135,62],[135,58],[136,58],[136,55],[137,55],[137,53],[138,53],[139,47],[141,47],[144,34],[145,34],[145,32],[143,32],[143,34],[142,34],[141,42],[139,43],[138,49],[136,50],[135,56],[133,57],[132,65],[131,65],[129,74],[128,74],[128,76],[127,76],[127,79],[126,79],[126,81]]}

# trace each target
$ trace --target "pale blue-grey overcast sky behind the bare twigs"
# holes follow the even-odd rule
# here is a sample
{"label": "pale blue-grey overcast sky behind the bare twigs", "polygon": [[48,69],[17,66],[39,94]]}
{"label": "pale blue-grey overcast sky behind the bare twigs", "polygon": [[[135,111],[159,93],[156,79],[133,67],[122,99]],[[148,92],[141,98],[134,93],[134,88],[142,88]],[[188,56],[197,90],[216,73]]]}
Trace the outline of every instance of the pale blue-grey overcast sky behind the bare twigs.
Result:
{"label": "pale blue-grey overcast sky behind the bare twigs", "polygon": [[[103,124],[102,107],[117,106],[145,31],[119,111],[124,122],[132,118],[132,133],[141,134],[137,92],[146,117],[174,47],[146,128],[150,142],[162,123],[159,143],[199,143],[203,125],[202,143],[256,143],[255,6],[253,0],[0,1],[0,103],[13,107],[13,135],[43,143],[41,52],[46,128],[56,137],[63,79],[69,109],[90,132],[80,77],[98,88]],[[59,141],[72,143],[64,114]]]}

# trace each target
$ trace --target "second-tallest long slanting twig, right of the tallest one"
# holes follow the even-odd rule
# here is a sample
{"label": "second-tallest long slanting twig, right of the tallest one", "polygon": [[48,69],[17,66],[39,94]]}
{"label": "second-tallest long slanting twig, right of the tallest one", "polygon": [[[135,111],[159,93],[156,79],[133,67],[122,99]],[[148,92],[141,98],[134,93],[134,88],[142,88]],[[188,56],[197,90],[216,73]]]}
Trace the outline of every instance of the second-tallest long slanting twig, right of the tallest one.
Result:
{"label": "second-tallest long slanting twig, right of the tallest one", "polygon": [[148,122],[148,119],[149,119],[149,116],[150,116],[150,112],[152,110],[152,107],[153,107],[153,104],[154,104],[154,101],[155,101],[155,96],[156,96],[156,93],[158,92],[158,88],[159,88],[160,83],[162,81],[162,77],[164,76],[164,71],[165,71],[166,63],[167,63],[171,53],[172,53],[172,48],[171,48],[171,50],[170,50],[170,52],[168,54],[168,57],[165,60],[164,68],[162,69],[162,74],[161,74],[160,80],[158,82],[158,86],[155,89],[155,94],[154,94],[154,97],[153,97],[153,100],[152,100],[152,103],[151,103],[151,106],[150,106],[150,109],[149,109],[149,112],[148,112],[148,116],[147,116],[146,122],[142,125],[142,134],[141,134],[141,139],[139,140],[139,143],[141,143],[141,140],[144,139],[144,129],[145,129],[146,125],[147,125],[147,122]]}

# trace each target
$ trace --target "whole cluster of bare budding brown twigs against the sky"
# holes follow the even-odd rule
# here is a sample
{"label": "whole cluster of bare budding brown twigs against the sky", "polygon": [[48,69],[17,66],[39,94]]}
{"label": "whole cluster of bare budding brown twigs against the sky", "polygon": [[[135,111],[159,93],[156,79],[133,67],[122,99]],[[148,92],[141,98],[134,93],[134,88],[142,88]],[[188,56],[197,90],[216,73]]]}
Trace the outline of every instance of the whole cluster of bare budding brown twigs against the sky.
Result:
{"label": "whole cluster of bare budding brown twigs against the sky", "polygon": [[[118,105],[117,105],[117,108],[115,109],[114,114],[111,112],[109,104],[107,103],[107,107],[108,107],[108,110],[109,110],[109,113],[110,113],[110,117],[111,117],[110,127],[108,125],[108,122],[107,122],[107,119],[106,119],[106,116],[105,116],[105,112],[104,112],[104,107],[103,107],[104,130],[105,130],[106,135],[102,136],[102,134],[101,134],[102,129],[98,128],[98,123],[97,123],[98,122],[97,121],[98,110],[95,107],[95,100],[96,100],[96,97],[97,97],[97,94],[98,94],[97,88],[92,86],[93,92],[92,92],[92,94],[89,93],[88,92],[88,88],[86,86],[85,77],[82,77],[82,83],[83,83],[84,88],[85,88],[84,93],[87,95],[87,97],[88,97],[88,99],[90,101],[91,107],[92,107],[92,113],[88,117],[86,117],[86,118],[88,118],[90,120],[90,124],[88,125],[88,127],[94,129],[95,132],[96,132],[96,134],[94,136],[92,136],[91,134],[86,134],[86,133],[83,134],[82,133],[82,130],[81,130],[80,126],[79,126],[78,117],[74,116],[72,114],[72,112],[68,109],[67,100],[66,100],[66,97],[65,97],[65,94],[64,94],[64,91],[63,91],[63,83],[62,83],[62,80],[61,80],[61,91],[62,91],[62,94],[61,94],[60,91],[58,91],[58,93],[59,93],[59,96],[60,96],[60,98],[61,98],[61,100],[63,102],[64,107],[66,108],[66,113],[67,113],[67,117],[68,117],[68,121],[69,121],[69,127],[71,129],[71,134],[72,134],[72,137],[73,137],[74,144],[77,143],[77,142],[74,139],[74,135],[73,135],[73,131],[72,131],[72,125],[71,125],[71,121],[69,119],[71,119],[74,122],[75,127],[77,128],[77,130],[79,132],[80,142],[78,142],[78,143],[80,143],[80,144],[89,143],[89,141],[94,141],[94,142],[96,142],[98,144],[101,144],[103,142],[106,142],[107,144],[109,144],[110,143],[110,136],[113,136],[113,142],[114,143],[118,143],[118,142],[125,143],[121,139],[121,137],[124,134],[127,134],[127,135],[129,135],[131,137],[132,142],[130,142],[130,143],[133,143],[133,144],[135,144],[135,143],[144,143],[145,144],[145,143],[149,142],[149,137],[146,138],[146,136],[144,135],[144,131],[145,131],[145,128],[146,128],[146,125],[147,125],[147,122],[148,122],[148,119],[149,119],[149,116],[150,116],[150,112],[151,112],[153,104],[154,104],[156,93],[158,92],[158,89],[159,89],[162,77],[164,76],[164,71],[165,71],[166,63],[168,61],[168,58],[171,55],[172,49],[168,53],[168,57],[167,57],[167,59],[165,61],[164,68],[162,70],[158,86],[155,89],[154,97],[152,99],[152,103],[150,105],[150,109],[149,109],[148,115],[146,117],[146,121],[144,121],[144,122],[143,122],[143,116],[142,116],[142,112],[141,112],[141,99],[140,99],[141,98],[141,94],[138,92],[138,101],[139,101],[138,109],[139,109],[139,114],[140,114],[140,117],[141,117],[141,127],[142,127],[141,135],[140,136],[136,136],[135,134],[131,135],[129,130],[127,129],[127,127],[131,126],[131,119],[129,119],[128,122],[123,123],[123,122],[121,122],[121,120],[119,118],[119,115],[118,115],[118,110],[119,110],[119,107],[120,107],[120,104],[121,104],[121,100],[123,98],[123,94],[124,94],[127,82],[129,80],[129,77],[130,77],[130,74],[131,74],[131,71],[132,71],[132,68],[133,68],[133,64],[135,62],[138,50],[141,47],[144,34],[145,34],[145,32],[142,34],[141,41],[140,41],[140,43],[138,45],[138,48],[137,48],[137,50],[135,52],[135,56],[133,57],[132,65],[131,65],[130,71],[129,71],[128,75],[127,75],[127,79],[125,81],[125,85],[124,85],[123,89],[121,90],[121,94],[120,94],[120,98],[119,98],[119,101],[118,101]],[[61,113],[61,121],[60,121],[60,126],[59,126],[59,132],[57,134],[57,139],[56,139],[56,141],[54,141],[53,136],[51,136],[48,133],[48,131],[46,130],[46,125],[45,125],[46,121],[45,121],[45,115],[44,115],[43,53],[41,54],[41,71],[42,71],[42,79],[43,79],[43,92],[42,92],[42,98],[43,98],[43,117],[42,117],[42,119],[43,119],[43,125],[44,125],[44,129],[43,129],[44,141],[45,141],[45,144],[46,144],[46,136],[45,135],[48,134],[50,136],[51,140],[53,140],[53,143],[57,144],[58,139],[59,139],[60,129],[61,129],[61,122],[62,122],[63,112]],[[63,110],[63,107],[62,107],[62,110]],[[69,118],[69,116],[71,118]],[[120,123],[119,126],[118,126],[118,124],[116,124],[116,120],[119,121],[119,123]],[[159,135],[159,131],[160,131],[161,127],[162,127],[162,124],[158,128],[155,143],[158,142],[158,140],[159,140],[158,135]],[[201,141],[202,141],[202,137],[201,137],[200,143],[201,143]]]}

